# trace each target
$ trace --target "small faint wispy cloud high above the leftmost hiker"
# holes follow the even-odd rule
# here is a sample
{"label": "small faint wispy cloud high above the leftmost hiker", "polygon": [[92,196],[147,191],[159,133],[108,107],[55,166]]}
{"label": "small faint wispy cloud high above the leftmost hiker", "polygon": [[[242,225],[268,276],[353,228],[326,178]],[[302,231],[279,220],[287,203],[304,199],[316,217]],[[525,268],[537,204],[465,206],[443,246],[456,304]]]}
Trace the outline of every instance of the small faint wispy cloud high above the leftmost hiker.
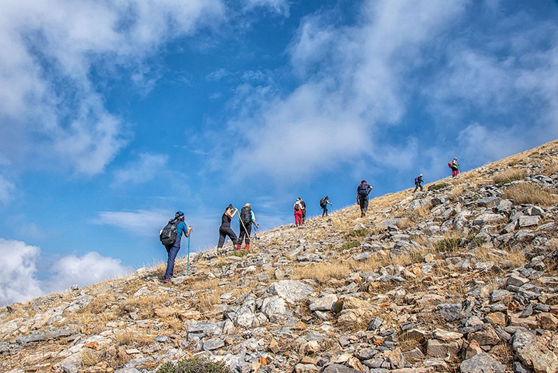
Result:
{"label": "small faint wispy cloud high above the leftmost hiker", "polygon": [[116,172],[117,184],[133,182],[136,184],[152,180],[157,175],[165,173],[168,156],[154,154],[140,154],[140,159],[128,164]]}

